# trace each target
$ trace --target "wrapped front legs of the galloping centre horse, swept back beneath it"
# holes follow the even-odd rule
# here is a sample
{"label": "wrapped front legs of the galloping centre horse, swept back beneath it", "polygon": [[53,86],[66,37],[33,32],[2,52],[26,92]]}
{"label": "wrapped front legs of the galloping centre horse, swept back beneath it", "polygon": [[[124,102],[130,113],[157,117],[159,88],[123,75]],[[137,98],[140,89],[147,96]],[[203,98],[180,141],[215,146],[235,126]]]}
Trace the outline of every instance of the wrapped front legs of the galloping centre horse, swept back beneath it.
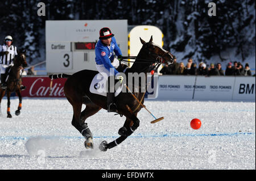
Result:
{"label": "wrapped front legs of the galloping centre horse, swept back beneath it", "polygon": [[106,151],[111,149],[123,142],[128,136],[133,134],[133,132],[139,127],[139,119],[137,118],[137,113],[134,114],[129,106],[126,106],[129,113],[126,115],[126,121],[122,128],[119,129],[118,134],[121,136],[116,140],[110,142],[109,144],[106,141],[102,141],[100,144],[100,150]]}

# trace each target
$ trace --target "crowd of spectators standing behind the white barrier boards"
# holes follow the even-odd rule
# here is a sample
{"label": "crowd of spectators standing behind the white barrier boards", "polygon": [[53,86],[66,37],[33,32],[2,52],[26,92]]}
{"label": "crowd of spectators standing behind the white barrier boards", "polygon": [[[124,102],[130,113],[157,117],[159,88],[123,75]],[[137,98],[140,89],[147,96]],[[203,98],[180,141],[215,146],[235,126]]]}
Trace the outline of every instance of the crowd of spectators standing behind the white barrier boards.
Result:
{"label": "crowd of spectators standing behind the white barrier boards", "polygon": [[[232,65],[232,62],[229,62],[226,65],[225,71],[222,70],[221,63],[217,63],[216,65],[210,64],[207,67],[207,64],[204,62],[200,62],[198,68],[195,62],[193,62],[192,58],[188,59],[187,64],[184,66],[183,62],[178,63],[176,57],[174,57],[174,64],[164,65],[160,70],[161,75],[204,75],[204,76],[212,76],[212,75],[226,75],[226,76],[251,76],[251,70],[249,64],[246,63],[245,67],[241,64],[241,62],[235,61]],[[253,75],[255,76],[255,74]]]}

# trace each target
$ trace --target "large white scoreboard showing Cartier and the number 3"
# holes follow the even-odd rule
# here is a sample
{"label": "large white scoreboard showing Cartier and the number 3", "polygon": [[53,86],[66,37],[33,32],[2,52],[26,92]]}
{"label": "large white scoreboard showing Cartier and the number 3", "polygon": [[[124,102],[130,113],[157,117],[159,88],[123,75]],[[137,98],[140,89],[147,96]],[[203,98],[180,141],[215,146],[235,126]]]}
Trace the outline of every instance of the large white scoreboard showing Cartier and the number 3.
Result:
{"label": "large white scoreboard showing Cartier and the number 3", "polygon": [[100,29],[109,27],[124,56],[127,55],[127,20],[47,20],[47,73],[96,70],[95,46]]}

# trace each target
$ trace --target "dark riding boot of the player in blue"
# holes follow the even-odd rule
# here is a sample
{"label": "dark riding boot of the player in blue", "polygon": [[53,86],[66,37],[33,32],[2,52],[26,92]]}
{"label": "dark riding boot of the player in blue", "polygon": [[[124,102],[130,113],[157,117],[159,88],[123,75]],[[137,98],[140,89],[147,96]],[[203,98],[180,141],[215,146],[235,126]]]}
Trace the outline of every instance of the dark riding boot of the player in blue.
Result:
{"label": "dark riding boot of the player in blue", "polygon": [[110,79],[114,80],[114,77],[110,76],[108,78],[108,92],[107,92],[107,104],[108,104],[108,112],[117,112],[117,104],[115,104],[115,92],[114,87],[110,85]]}

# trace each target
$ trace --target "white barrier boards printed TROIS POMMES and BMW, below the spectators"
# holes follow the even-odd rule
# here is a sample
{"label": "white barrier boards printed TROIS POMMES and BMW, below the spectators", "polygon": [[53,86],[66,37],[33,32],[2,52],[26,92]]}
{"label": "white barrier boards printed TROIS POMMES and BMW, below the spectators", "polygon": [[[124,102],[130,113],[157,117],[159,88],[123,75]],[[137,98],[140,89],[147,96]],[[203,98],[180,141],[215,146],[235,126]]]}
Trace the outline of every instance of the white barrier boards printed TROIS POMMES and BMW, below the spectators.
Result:
{"label": "white barrier boards printed TROIS POMMES and BMW, below the spectators", "polygon": [[158,83],[160,99],[255,101],[255,77],[163,75]]}

